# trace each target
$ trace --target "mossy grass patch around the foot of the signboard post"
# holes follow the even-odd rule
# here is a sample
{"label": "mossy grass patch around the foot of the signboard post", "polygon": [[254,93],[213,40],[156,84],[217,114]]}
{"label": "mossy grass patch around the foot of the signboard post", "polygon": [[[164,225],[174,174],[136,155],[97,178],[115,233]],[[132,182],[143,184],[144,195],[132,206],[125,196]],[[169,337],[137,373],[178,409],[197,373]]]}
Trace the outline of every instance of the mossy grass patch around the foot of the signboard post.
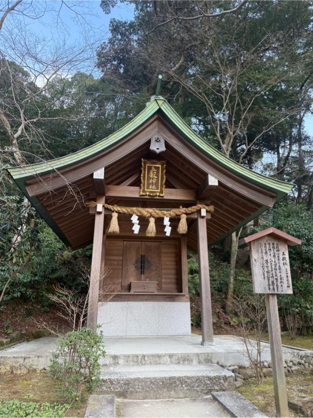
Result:
{"label": "mossy grass patch around the foot of the signboard post", "polygon": [[[311,397],[313,393],[313,372],[302,370],[298,373],[290,373],[286,376],[288,399]],[[258,385],[256,379],[244,381],[244,385],[238,389],[255,406],[268,417],[275,417],[275,399],[272,377],[267,377],[262,385]],[[300,417],[290,410],[291,417]]]}

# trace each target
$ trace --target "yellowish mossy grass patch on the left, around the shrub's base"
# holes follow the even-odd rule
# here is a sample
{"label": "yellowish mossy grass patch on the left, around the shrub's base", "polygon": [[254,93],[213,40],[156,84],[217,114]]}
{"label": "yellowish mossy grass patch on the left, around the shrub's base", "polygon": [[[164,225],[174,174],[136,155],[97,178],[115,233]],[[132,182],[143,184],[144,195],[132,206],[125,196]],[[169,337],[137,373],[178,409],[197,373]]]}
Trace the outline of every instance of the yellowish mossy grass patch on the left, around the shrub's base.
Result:
{"label": "yellowish mossy grass patch on the left, around the shrub's base", "polygon": [[[48,373],[27,373],[23,375],[1,375],[0,400],[35,403],[65,403],[57,393],[56,381]],[[66,417],[84,417],[88,400],[87,391],[83,390],[82,401],[68,409]],[[33,415],[34,416],[34,415]]]}

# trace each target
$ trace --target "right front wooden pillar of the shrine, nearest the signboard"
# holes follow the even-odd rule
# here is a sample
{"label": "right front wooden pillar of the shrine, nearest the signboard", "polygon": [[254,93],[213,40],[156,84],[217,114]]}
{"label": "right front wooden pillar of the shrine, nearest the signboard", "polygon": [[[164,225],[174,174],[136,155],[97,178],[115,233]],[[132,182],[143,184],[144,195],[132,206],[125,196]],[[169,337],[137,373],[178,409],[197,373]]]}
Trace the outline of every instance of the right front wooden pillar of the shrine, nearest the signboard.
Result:
{"label": "right front wooden pillar of the shrine, nearest the signboard", "polygon": [[198,256],[201,299],[202,346],[213,345],[213,323],[209,273],[209,255],[206,234],[206,210],[198,211]]}

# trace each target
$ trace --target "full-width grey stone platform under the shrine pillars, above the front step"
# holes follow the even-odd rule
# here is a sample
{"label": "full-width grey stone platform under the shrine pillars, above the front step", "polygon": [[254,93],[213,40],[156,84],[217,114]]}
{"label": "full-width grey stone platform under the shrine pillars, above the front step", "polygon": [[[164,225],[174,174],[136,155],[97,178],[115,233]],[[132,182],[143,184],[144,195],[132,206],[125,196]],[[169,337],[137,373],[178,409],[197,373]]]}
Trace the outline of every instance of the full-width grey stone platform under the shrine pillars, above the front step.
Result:
{"label": "full-width grey stone platform under the shrine pillars, above the front step", "polygon": [[[42,337],[28,343],[0,350],[0,371],[3,368],[44,369],[55,347],[56,338]],[[214,346],[201,346],[201,336],[186,337],[106,337],[106,356],[101,360],[107,366],[149,366],[178,364],[219,364],[249,366],[244,343],[234,335],[214,336]],[[252,349],[252,353],[255,349]],[[270,360],[269,344],[262,343],[262,360]],[[311,351],[307,351],[311,353]],[[285,360],[299,359],[306,350],[283,347]]]}

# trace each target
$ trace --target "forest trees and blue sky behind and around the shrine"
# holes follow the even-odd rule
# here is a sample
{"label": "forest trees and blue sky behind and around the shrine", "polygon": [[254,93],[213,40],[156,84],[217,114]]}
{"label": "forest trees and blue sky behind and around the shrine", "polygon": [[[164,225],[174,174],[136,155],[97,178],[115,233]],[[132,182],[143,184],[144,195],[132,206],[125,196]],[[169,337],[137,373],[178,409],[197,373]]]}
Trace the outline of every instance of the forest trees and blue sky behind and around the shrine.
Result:
{"label": "forest trees and blue sky behind and around the shrine", "polygon": [[[302,239],[290,250],[294,293],[280,298],[283,326],[293,336],[312,333],[313,140],[305,122],[312,115],[313,2],[92,2],[106,18],[131,6],[130,17],[110,19],[107,34],[93,31],[87,3],[0,2],[1,332],[24,327],[35,311],[53,311],[46,292],[56,283],[77,296],[86,292],[81,274],[91,257],[90,246],[74,252],[64,246],[5,168],[107,137],[145,107],[161,73],[161,94],[201,138],[295,185],[253,225],[210,249],[215,327],[236,325],[236,301],[252,298],[239,233],[274,226]],[[73,42],[65,10],[81,29]],[[39,37],[32,25],[46,14],[51,27]],[[197,255],[190,253],[188,263],[192,321],[200,326]]]}

